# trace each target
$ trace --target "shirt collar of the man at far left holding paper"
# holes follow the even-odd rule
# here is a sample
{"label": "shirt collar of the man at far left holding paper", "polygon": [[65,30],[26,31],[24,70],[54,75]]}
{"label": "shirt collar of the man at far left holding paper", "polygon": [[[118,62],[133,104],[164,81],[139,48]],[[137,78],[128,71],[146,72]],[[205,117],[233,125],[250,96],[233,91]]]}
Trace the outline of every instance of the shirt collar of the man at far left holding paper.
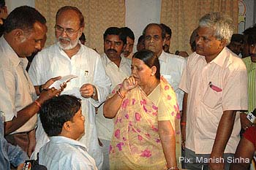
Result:
{"label": "shirt collar of the man at far left holding paper", "polygon": [[21,64],[23,69],[26,69],[26,66],[28,65],[28,60],[26,58],[20,58],[17,53],[12,49],[12,47],[8,44],[6,39],[4,39],[4,36],[1,36],[1,46],[4,49],[4,53],[7,53],[7,58],[10,59],[10,62],[12,62],[13,66],[18,66]]}

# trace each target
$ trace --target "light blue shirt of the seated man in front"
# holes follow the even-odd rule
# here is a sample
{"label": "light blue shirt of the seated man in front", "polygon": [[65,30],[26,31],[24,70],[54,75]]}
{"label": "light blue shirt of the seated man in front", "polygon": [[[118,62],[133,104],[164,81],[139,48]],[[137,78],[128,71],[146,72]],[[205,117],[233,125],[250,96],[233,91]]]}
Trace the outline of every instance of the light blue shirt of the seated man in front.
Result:
{"label": "light blue shirt of the seated man in front", "polygon": [[86,146],[64,136],[52,136],[39,151],[39,164],[47,169],[97,169]]}

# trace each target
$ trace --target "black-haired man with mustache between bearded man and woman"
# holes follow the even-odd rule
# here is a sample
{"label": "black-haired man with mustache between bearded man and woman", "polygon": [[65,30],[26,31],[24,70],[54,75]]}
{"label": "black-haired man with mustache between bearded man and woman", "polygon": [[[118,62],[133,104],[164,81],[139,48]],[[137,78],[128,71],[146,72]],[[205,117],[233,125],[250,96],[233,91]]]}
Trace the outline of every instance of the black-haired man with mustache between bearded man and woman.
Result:
{"label": "black-haired man with mustache between bearded man and woman", "polygon": [[[102,64],[108,77],[110,77],[111,90],[113,90],[125,77],[131,74],[131,60],[121,56],[127,37],[121,33],[120,28],[110,27],[105,31],[103,38],[105,53],[102,55]],[[99,107],[96,115],[96,126],[104,155],[103,169],[107,170],[110,169],[108,155],[114,124],[113,120],[104,117],[103,104]]]}

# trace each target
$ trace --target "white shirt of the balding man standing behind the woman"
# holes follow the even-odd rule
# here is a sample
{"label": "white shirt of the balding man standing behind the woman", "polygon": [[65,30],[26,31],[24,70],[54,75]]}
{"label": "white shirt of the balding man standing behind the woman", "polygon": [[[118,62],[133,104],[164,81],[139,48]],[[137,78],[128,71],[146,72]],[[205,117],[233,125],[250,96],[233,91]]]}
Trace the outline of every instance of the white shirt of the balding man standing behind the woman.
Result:
{"label": "white shirt of the balding man standing behind the woman", "polygon": [[159,56],[160,74],[170,83],[176,93],[178,107],[182,110],[184,92],[178,88],[181,82],[182,72],[187,64],[185,58],[162,51]]}

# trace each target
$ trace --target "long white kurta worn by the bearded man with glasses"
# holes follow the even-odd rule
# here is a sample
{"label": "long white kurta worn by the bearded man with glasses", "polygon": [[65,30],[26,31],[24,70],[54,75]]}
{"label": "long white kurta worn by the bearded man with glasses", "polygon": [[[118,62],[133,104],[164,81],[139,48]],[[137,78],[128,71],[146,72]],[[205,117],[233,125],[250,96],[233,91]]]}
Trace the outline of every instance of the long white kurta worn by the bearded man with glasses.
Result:
{"label": "long white kurta worn by the bearded man with glasses", "polygon": [[[108,96],[110,79],[105,74],[98,53],[81,45],[78,53],[70,59],[58,45],[52,45],[35,56],[29,69],[29,75],[34,85],[42,85],[52,77],[68,74],[75,74],[78,78],[67,82],[67,87],[64,88],[61,94],[71,94],[82,99],[86,134],[82,136],[80,142],[86,144],[86,147],[89,148],[89,154],[95,159],[98,169],[101,169],[103,157],[97,139],[94,107],[99,107]],[[83,98],[80,95],[80,87],[86,83],[91,83],[97,88],[99,101],[92,98]],[[39,125],[36,134],[37,142],[45,140],[46,134],[42,131],[42,125]],[[35,152],[38,152],[39,148],[42,147],[42,145],[37,145]]]}

